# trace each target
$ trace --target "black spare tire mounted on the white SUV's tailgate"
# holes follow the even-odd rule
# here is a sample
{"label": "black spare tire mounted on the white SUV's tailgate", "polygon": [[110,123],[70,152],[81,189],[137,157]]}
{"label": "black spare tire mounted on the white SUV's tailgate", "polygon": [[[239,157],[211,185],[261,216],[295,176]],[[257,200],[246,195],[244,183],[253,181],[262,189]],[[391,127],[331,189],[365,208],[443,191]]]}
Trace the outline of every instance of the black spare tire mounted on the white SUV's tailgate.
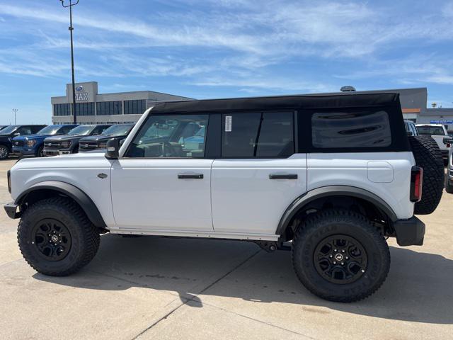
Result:
{"label": "black spare tire mounted on the white SUV's tailgate", "polygon": [[415,215],[428,215],[440,202],[444,190],[444,161],[442,152],[431,136],[408,137],[415,164],[423,168],[422,199],[415,203]]}

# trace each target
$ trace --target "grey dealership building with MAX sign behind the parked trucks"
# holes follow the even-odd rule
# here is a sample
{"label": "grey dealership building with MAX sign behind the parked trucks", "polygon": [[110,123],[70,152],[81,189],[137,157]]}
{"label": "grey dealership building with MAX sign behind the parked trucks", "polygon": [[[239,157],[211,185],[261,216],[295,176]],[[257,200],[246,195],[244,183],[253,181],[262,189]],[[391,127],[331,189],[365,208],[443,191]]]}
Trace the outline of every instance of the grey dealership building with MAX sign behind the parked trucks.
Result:
{"label": "grey dealership building with MAX sign behind the parked trucks", "polygon": [[[155,103],[191,99],[154,91],[98,94],[97,81],[76,83],[77,123],[136,123],[142,113]],[[50,101],[52,103],[52,123],[70,124],[74,122],[72,84],[66,85],[66,96],[52,97]]]}

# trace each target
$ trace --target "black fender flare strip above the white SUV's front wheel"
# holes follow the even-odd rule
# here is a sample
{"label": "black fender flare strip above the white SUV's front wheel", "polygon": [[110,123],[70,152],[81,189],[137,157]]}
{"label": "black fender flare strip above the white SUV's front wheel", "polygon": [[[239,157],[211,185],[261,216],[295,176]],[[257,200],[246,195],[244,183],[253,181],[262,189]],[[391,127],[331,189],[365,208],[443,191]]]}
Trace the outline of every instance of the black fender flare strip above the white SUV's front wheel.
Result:
{"label": "black fender flare strip above the white SUV's front wheel", "polygon": [[57,191],[59,193],[62,193],[69,198],[72,198],[73,200],[76,201],[77,204],[80,205],[82,210],[86,213],[86,217],[88,217],[88,220],[93,223],[96,227],[100,228],[107,228],[107,225],[105,225],[104,219],[101,215],[101,212],[99,212],[98,207],[96,207],[96,204],[94,204],[93,200],[84,193],[84,191],[81,191],[79,188],[76,186],[73,186],[72,184],[66,183],[66,182],[61,182],[61,181],[44,181],[40,183],[33,184],[33,186],[30,186],[27,190],[23,191],[18,198],[14,201],[16,205],[22,205],[28,196],[28,194],[33,193],[33,191],[38,191],[38,190],[52,190],[52,191]]}

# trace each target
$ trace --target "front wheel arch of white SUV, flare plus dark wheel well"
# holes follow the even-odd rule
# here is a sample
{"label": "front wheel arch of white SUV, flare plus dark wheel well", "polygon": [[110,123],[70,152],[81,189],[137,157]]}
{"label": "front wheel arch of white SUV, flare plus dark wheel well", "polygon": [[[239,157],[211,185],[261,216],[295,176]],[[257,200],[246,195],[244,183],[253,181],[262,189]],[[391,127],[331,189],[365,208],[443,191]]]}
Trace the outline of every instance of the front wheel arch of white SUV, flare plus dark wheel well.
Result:
{"label": "front wheel arch of white SUV, flare plus dark wheel well", "polygon": [[42,198],[51,196],[67,196],[74,200],[82,210],[84,210],[86,217],[90,220],[93,225],[99,228],[106,229],[104,219],[99,212],[96,204],[91,198],[81,191],[81,189],[73,186],[72,184],[62,181],[43,181],[30,186],[27,190],[23,191],[18,198],[15,200],[16,205],[23,205],[25,203],[35,202]]}

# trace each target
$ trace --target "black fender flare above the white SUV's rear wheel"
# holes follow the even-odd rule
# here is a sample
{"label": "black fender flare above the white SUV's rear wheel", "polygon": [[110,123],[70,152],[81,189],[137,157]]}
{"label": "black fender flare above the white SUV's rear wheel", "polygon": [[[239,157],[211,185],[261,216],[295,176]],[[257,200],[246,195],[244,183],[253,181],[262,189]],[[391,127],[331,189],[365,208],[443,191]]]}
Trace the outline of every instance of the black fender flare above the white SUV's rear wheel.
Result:
{"label": "black fender flare above the white SUV's rear wheel", "polygon": [[285,210],[280,222],[278,223],[277,231],[275,234],[282,235],[286,228],[291,222],[292,217],[297,214],[297,212],[304,208],[304,205],[309,204],[310,202],[323,197],[328,196],[350,196],[355,198],[362,198],[367,200],[369,203],[376,205],[377,208],[382,210],[393,222],[398,220],[394,210],[388,205],[382,198],[366,191],[361,188],[356,188],[355,186],[322,186],[321,188],[316,188],[307,193],[304,193],[302,196],[296,198],[289,207]]}

